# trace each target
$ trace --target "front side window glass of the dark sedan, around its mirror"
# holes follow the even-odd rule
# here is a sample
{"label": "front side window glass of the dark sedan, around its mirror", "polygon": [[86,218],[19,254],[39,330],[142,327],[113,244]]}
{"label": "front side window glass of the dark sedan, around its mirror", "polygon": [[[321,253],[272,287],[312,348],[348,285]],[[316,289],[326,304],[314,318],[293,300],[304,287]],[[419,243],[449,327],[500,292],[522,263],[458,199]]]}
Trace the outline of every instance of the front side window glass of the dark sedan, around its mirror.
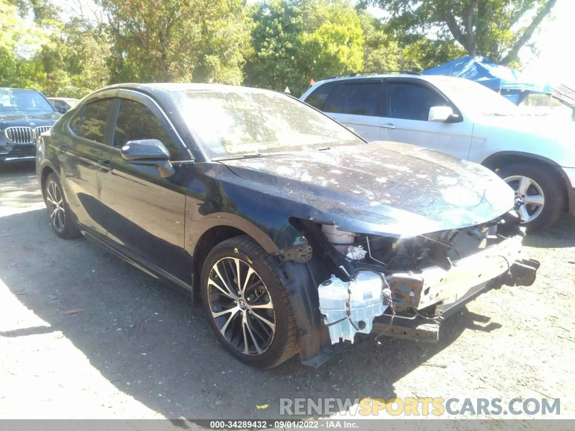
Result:
{"label": "front side window glass of the dark sedan, around its mirror", "polygon": [[120,110],[114,130],[114,147],[122,148],[128,141],[138,139],[158,139],[170,152],[170,160],[188,160],[190,157],[179,148],[164,129],[154,113],[140,102],[121,99]]}

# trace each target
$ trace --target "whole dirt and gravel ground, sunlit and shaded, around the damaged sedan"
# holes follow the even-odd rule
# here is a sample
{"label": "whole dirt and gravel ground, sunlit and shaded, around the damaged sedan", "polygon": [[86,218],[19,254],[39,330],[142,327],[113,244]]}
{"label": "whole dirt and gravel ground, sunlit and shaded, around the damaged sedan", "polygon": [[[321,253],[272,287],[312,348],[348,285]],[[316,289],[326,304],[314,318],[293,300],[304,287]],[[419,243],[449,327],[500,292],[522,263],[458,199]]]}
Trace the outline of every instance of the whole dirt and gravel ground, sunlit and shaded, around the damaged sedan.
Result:
{"label": "whole dirt and gravel ground, sunlit and shaded, around the damaged sedan", "polygon": [[560,398],[575,418],[575,221],[524,245],[535,284],[481,295],[439,344],[369,338],[317,369],[257,371],[177,291],[57,238],[33,166],[0,167],[0,418],[269,418],[298,397]]}

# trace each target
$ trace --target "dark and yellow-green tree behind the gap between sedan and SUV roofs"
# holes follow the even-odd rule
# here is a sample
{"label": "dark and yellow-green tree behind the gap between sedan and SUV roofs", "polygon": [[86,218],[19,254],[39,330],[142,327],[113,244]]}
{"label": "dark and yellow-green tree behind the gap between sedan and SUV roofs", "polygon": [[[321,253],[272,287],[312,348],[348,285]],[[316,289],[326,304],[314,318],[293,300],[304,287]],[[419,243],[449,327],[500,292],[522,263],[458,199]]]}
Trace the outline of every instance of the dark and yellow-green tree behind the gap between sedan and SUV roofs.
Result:
{"label": "dark and yellow-green tree behind the gap between sedan and SUV roofs", "polygon": [[271,0],[254,13],[254,53],[246,84],[301,94],[310,79],[359,71],[363,30],[353,7],[338,0]]}

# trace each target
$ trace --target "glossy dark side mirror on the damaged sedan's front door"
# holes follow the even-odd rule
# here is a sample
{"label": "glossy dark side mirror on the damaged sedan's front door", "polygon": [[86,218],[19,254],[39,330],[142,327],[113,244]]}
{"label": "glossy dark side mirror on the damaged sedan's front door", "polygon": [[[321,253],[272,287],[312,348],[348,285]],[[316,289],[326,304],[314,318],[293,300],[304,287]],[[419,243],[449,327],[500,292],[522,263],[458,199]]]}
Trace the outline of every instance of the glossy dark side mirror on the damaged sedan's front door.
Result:
{"label": "glossy dark side mirror on the damaged sedan's front door", "polygon": [[132,164],[155,166],[162,178],[175,174],[170,163],[170,152],[162,141],[157,139],[141,139],[128,141],[121,148],[122,159]]}

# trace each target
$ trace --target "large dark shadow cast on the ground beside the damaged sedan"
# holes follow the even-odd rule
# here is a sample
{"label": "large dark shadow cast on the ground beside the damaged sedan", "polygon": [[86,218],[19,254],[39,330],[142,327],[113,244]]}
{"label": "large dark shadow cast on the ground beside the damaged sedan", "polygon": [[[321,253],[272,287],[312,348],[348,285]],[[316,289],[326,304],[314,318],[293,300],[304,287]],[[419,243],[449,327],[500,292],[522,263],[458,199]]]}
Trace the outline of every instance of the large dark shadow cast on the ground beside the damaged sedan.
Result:
{"label": "large dark shadow cast on the ground beside the damaged sedan", "polygon": [[83,238],[60,240],[45,210],[0,217],[0,232],[11,235],[0,241],[0,278],[50,325],[0,336],[60,330],[121,391],[171,418],[277,418],[279,398],[393,398],[421,364],[446,368],[433,356],[464,329],[498,327],[463,309],[436,345],[368,337],[317,369],[296,356],[258,371],[220,347],[201,306]]}

